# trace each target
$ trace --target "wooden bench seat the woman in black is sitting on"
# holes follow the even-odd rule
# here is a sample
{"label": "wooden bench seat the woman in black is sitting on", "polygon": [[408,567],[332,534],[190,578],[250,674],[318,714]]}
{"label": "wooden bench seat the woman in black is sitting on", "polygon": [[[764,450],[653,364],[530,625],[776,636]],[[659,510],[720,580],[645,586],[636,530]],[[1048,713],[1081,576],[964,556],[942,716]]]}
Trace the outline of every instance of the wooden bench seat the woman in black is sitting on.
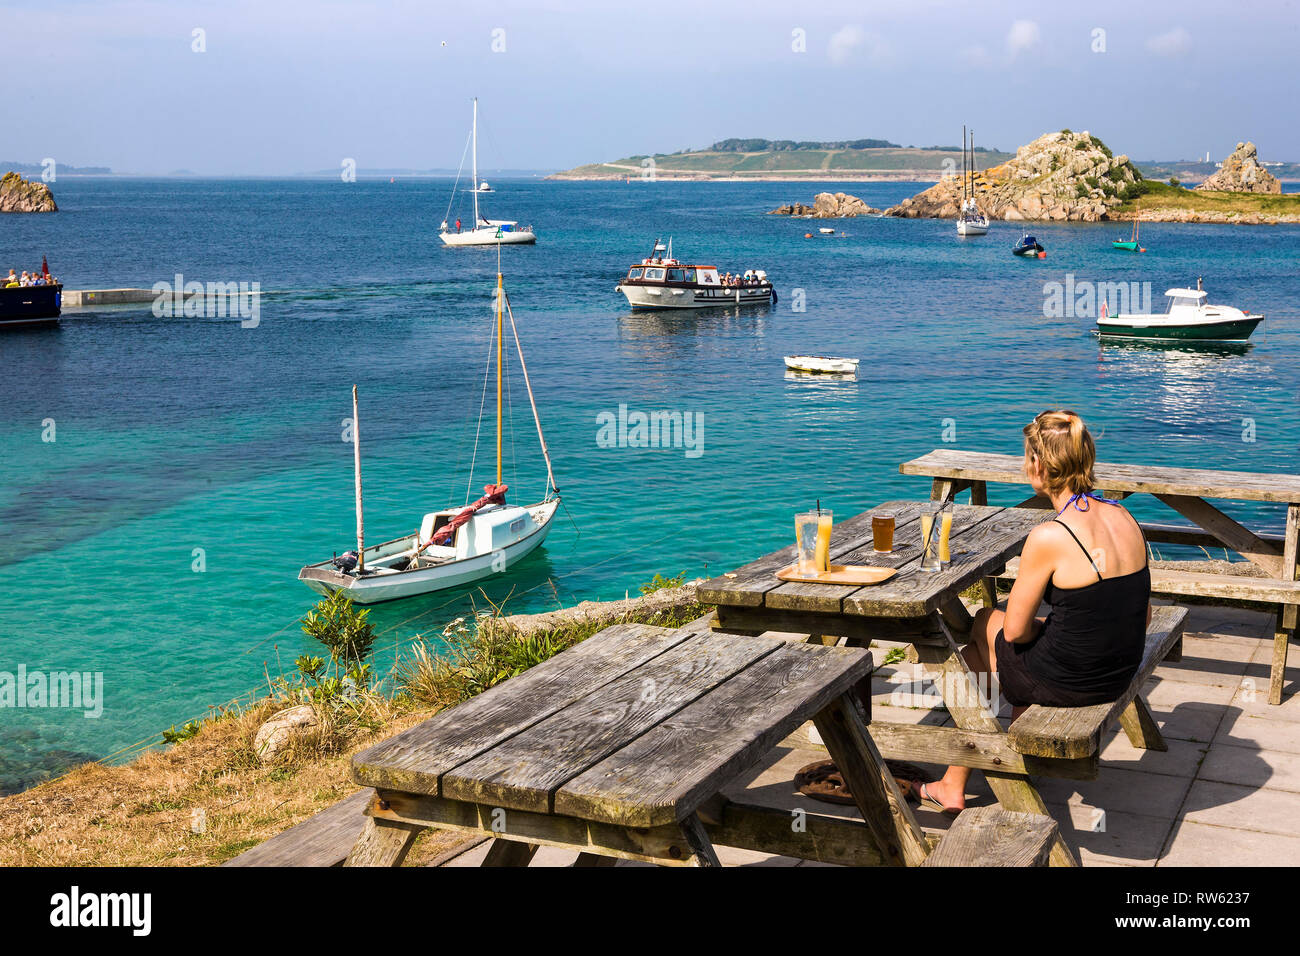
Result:
{"label": "wooden bench seat the woman in black is sitting on", "polygon": [[1091,708],[1031,706],[1008,730],[1011,749],[1031,757],[1079,760],[1101,749],[1101,734],[1115,719],[1128,743],[1145,750],[1167,750],[1150,710],[1140,697],[1156,666],[1182,640],[1186,607],[1156,607],[1147,628],[1147,649],[1128,689],[1110,704]]}

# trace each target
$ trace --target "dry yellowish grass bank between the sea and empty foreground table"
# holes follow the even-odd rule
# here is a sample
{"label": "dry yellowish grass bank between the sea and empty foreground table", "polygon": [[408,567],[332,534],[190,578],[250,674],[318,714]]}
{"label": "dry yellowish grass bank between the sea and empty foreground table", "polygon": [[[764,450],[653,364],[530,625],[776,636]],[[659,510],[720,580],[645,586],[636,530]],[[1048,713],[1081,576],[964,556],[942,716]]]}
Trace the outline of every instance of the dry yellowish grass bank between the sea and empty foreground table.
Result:
{"label": "dry yellowish grass bank between the sea and empty foreground table", "polygon": [[[348,662],[332,684],[313,659],[296,678],[272,682],[269,696],[218,709],[164,749],[126,765],[86,763],[0,799],[0,866],[200,866],[238,856],[343,800],[356,790],[350,761],[364,747],[528,670],[620,620],[677,627],[710,609],[681,588],[682,575],[642,587],[642,597],[586,609],[511,617],[494,606],[417,640],[399,658],[393,689],[360,679]],[[317,607],[317,622],[324,609]],[[577,610],[577,609],[571,609]],[[355,636],[364,611],[328,609],[338,632]],[[339,671],[342,672],[342,671]],[[315,679],[308,676],[315,674]],[[389,682],[384,682],[389,683]],[[256,750],[257,730],[274,713],[312,704],[318,724],[291,737],[273,760]],[[465,836],[425,831],[408,866],[463,844]]]}

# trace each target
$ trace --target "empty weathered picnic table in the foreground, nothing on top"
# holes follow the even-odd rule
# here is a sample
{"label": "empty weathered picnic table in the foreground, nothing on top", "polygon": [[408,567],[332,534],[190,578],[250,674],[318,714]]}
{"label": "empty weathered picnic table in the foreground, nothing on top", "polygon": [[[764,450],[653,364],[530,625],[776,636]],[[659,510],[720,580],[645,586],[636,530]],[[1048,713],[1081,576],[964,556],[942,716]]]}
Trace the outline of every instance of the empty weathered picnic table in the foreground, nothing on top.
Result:
{"label": "empty weathered picnic table in the foreground, nothing on top", "polygon": [[[714,632],[618,624],[356,754],[373,787],[348,865],[399,865],[424,827],[495,838],[485,866],[537,845],[718,865],[714,843],[852,864],[919,865],[915,817],[866,731],[853,688],[871,654]],[[720,797],[812,719],[863,821]]]}

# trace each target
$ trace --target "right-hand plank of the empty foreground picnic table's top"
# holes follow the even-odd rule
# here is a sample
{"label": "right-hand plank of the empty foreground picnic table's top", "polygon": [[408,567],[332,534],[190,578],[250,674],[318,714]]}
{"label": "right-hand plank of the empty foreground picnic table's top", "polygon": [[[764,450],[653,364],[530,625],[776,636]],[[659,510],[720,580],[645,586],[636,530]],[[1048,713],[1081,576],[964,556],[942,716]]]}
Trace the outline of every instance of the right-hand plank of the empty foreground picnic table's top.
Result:
{"label": "right-hand plank of the empty foreground picnic table's top", "polygon": [[780,644],[555,793],[555,813],[650,827],[682,819],[871,672],[861,649]]}

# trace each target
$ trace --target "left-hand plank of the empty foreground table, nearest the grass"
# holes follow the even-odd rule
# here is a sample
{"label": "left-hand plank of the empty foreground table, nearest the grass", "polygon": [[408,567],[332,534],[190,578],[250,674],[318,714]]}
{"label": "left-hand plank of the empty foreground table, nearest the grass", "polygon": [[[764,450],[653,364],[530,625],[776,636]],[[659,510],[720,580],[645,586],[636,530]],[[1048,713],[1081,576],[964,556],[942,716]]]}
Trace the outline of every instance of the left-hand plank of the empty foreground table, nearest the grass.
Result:
{"label": "left-hand plank of the empty foreground table, nearest the grass", "polygon": [[510,682],[443,710],[352,757],[352,778],[369,787],[438,793],[458,763],[546,719],[562,708],[707,631],[618,624]]}

